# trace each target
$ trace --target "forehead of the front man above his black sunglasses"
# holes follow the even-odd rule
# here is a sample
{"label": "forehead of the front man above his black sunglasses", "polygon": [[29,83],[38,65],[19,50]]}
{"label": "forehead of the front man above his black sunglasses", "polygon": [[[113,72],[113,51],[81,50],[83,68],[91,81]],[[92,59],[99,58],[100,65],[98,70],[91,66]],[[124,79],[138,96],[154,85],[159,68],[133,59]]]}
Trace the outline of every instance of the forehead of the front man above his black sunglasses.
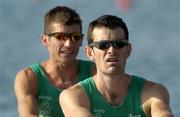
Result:
{"label": "forehead of the front man above his black sunglasses", "polygon": [[94,41],[107,39],[124,39],[125,34],[122,28],[109,29],[106,27],[96,27],[92,32]]}

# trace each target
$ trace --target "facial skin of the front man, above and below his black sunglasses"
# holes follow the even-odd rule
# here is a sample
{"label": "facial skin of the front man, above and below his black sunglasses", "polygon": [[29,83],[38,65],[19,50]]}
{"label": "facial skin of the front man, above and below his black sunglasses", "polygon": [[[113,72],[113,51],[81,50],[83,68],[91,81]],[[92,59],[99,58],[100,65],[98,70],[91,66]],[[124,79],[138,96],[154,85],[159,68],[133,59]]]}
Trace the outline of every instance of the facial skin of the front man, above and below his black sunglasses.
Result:
{"label": "facial skin of the front man, above and below his black sunglasses", "polygon": [[[122,28],[108,29],[105,27],[98,27],[93,30],[93,39],[95,41],[124,39],[124,31]],[[126,63],[126,51],[122,49],[115,49],[110,47],[106,50],[100,50],[94,47],[94,57],[97,68],[104,73],[119,74],[124,72]]]}

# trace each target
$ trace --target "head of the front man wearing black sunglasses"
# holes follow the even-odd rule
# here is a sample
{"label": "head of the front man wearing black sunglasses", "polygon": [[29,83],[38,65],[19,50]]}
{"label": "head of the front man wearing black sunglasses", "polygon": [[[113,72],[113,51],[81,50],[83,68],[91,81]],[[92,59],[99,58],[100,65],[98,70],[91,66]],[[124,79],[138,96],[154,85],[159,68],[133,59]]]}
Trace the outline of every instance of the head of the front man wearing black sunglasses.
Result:
{"label": "head of the front man wearing black sunglasses", "polygon": [[123,74],[131,52],[129,32],[124,21],[113,15],[103,15],[89,24],[87,56],[96,63],[97,70],[109,74]]}

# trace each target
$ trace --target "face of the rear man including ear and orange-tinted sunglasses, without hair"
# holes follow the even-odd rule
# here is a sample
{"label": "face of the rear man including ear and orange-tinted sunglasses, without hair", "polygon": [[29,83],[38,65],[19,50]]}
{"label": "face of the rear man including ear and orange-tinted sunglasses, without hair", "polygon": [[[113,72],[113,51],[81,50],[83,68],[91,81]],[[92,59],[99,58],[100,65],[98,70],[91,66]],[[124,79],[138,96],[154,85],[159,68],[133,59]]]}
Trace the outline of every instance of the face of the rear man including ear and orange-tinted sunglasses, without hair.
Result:
{"label": "face of the rear man including ear and orange-tinted sunglasses, without hair", "polygon": [[[61,63],[72,63],[78,54],[82,39],[74,40],[71,34],[80,34],[80,26],[52,23],[49,30],[49,35],[44,35],[42,40],[49,50],[50,58]],[[68,36],[58,35],[60,33]]]}

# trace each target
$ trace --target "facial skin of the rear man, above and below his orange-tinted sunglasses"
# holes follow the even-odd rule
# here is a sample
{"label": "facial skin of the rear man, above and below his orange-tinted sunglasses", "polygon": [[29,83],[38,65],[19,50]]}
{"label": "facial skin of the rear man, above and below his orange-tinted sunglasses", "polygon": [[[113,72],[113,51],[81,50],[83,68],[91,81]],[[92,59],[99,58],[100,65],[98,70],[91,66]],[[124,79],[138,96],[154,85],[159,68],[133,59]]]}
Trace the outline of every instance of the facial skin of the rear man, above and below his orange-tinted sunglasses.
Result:
{"label": "facial skin of the rear man, above and below his orange-tinted sunglasses", "polygon": [[[51,33],[63,32],[63,33],[80,33],[80,26],[78,24],[73,25],[63,25],[61,23],[52,23],[50,26]],[[55,38],[55,37],[54,37]],[[54,40],[53,56],[54,58],[63,63],[72,63],[75,61],[77,54],[79,52],[79,47],[81,46],[81,41],[72,42],[70,40],[59,41]]]}

